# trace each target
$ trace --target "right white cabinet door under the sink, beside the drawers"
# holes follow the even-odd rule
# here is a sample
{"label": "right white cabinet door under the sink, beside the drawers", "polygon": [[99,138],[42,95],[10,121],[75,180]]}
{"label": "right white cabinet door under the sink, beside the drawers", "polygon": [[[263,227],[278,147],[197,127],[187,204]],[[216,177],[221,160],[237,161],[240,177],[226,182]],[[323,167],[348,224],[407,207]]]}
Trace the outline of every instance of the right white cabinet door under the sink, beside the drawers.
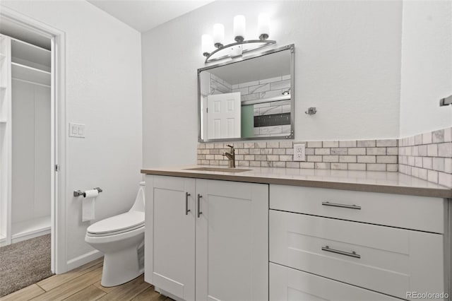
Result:
{"label": "right white cabinet door under the sink, beside the drawers", "polygon": [[268,300],[268,185],[197,179],[196,194],[196,300]]}

